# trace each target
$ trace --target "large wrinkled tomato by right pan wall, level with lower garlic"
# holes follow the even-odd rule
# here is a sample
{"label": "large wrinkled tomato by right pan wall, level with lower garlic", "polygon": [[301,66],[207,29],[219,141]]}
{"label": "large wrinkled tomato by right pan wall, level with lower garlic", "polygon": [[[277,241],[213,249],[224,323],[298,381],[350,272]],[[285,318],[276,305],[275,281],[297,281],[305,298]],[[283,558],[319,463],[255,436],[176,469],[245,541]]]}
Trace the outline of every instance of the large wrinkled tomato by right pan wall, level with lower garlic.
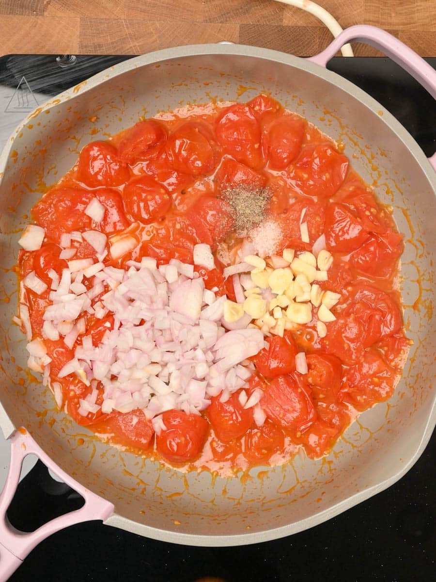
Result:
{"label": "large wrinkled tomato by right pan wall, level with lower garlic", "polygon": [[395,300],[369,285],[362,284],[355,288],[345,313],[355,314],[362,323],[365,347],[398,332],[402,325],[401,312]]}

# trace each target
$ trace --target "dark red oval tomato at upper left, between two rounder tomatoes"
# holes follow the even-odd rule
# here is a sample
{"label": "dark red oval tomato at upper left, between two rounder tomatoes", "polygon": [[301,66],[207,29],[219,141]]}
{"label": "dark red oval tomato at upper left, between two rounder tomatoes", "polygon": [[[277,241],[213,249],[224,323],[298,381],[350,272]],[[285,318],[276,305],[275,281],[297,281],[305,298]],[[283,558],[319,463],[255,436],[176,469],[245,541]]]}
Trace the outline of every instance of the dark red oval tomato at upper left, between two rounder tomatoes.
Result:
{"label": "dark red oval tomato at upper left, between two rounder tomatoes", "polygon": [[162,123],[155,119],[138,121],[123,133],[123,139],[118,145],[118,155],[126,164],[132,164],[138,159],[152,159],[159,154],[165,141],[166,130]]}

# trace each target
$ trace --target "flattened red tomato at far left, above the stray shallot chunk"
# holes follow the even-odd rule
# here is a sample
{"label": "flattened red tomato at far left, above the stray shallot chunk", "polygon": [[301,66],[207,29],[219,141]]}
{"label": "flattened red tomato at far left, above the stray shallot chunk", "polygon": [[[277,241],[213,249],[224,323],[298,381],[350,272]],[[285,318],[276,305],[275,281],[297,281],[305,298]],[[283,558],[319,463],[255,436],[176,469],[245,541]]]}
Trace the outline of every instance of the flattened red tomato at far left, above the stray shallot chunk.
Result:
{"label": "flattened red tomato at far left, above the stray shallot chunk", "polygon": [[64,232],[90,230],[91,218],[85,214],[85,208],[92,197],[88,190],[55,187],[34,205],[33,218],[50,239],[58,242]]}

